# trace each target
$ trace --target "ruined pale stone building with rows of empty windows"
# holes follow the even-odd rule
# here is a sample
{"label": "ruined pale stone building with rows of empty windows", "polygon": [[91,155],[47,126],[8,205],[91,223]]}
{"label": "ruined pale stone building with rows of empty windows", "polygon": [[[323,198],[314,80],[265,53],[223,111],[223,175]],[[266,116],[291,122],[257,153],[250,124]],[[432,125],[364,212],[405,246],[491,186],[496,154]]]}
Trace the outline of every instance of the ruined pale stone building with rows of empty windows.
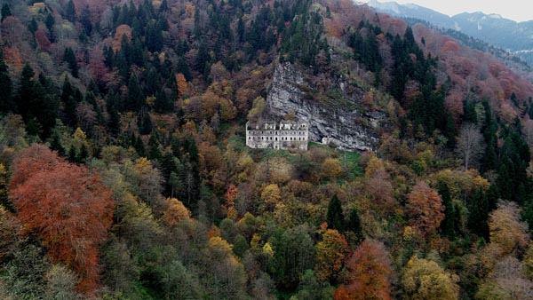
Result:
{"label": "ruined pale stone building with rows of empty windows", "polygon": [[246,146],[251,148],[307,150],[309,125],[306,122],[246,123]]}

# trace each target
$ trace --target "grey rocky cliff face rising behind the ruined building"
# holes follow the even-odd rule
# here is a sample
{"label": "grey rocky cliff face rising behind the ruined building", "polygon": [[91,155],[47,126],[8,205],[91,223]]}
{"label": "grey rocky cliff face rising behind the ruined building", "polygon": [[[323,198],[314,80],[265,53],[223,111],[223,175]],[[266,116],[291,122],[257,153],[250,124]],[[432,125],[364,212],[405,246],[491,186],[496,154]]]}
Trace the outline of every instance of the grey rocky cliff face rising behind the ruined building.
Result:
{"label": "grey rocky cliff face rising behind the ruined building", "polygon": [[385,119],[383,113],[363,113],[362,91],[346,92],[342,78],[332,79],[338,98],[324,101],[314,97],[314,88],[306,80],[305,70],[290,63],[276,67],[267,95],[267,113],[282,118],[294,114],[298,120],[309,123],[309,140],[330,143],[347,150],[374,150],[378,146],[378,129]]}

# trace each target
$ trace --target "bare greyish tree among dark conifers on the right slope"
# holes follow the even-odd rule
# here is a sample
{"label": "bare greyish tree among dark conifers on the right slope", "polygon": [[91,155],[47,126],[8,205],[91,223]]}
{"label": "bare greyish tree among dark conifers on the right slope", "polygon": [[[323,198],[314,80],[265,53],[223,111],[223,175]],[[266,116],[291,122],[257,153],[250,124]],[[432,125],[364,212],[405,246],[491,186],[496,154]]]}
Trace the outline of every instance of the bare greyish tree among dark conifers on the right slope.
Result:
{"label": "bare greyish tree among dark conifers on the right slope", "polygon": [[483,153],[483,137],[480,129],[472,123],[466,123],[457,137],[457,153],[461,155],[465,170],[477,162]]}

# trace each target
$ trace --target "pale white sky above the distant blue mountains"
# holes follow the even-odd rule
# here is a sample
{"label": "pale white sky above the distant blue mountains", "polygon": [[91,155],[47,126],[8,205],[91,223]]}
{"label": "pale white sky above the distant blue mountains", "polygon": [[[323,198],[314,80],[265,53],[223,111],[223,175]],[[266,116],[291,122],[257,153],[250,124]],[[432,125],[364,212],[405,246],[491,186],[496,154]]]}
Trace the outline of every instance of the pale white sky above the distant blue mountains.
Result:
{"label": "pale white sky above the distant blue mountains", "polygon": [[[388,2],[393,0],[378,0]],[[362,1],[367,2],[367,1]],[[460,12],[497,13],[506,19],[533,20],[533,0],[395,0],[400,4],[418,4],[448,15]]]}

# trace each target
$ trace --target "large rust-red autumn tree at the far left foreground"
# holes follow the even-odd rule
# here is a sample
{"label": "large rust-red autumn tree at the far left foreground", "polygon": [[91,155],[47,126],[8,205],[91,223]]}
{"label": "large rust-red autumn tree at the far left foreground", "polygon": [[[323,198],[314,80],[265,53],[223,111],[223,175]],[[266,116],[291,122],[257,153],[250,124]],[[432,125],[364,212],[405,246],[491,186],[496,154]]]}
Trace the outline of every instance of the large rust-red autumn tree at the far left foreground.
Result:
{"label": "large rust-red autumn tree at the far left foreground", "polygon": [[99,177],[46,146],[30,146],[13,162],[10,197],[25,231],[41,237],[52,261],[79,274],[80,290],[97,288],[99,244],[113,214],[111,192]]}

